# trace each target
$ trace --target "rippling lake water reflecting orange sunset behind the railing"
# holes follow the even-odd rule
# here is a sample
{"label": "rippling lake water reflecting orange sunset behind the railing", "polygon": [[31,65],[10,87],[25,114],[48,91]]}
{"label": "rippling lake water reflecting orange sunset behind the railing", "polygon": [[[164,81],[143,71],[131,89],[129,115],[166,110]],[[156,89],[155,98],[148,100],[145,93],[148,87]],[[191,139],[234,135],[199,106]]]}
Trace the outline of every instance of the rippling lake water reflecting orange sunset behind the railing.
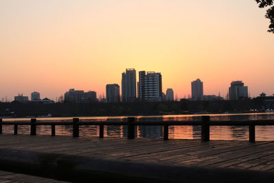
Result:
{"label": "rippling lake water reflecting orange sunset behind the railing", "polygon": [[[197,121],[201,120],[201,115],[166,115],[166,116],[149,116],[136,117],[138,121]],[[66,121],[72,117],[65,118],[38,118],[40,121]],[[127,117],[80,117],[80,121],[126,121]],[[274,119],[274,113],[254,113],[254,114],[210,114],[213,120],[260,120]],[[30,119],[3,119],[3,121],[30,121]],[[80,126],[80,136],[99,136],[98,126]],[[145,138],[162,138],[162,126],[137,126],[136,132],[138,137]],[[274,126],[256,126],[256,141],[274,141]],[[3,133],[12,134],[12,125],[3,125]],[[19,125],[18,134],[29,134],[29,126]],[[50,126],[38,126],[37,134],[50,135]],[[72,135],[71,125],[56,126],[56,135]],[[210,139],[212,140],[248,140],[249,129],[247,126],[211,126]],[[104,136],[126,137],[127,127],[123,126],[105,126]],[[177,139],[197,139],[201,138],[200,126],[171,126],[169,127],[169,137]]]}

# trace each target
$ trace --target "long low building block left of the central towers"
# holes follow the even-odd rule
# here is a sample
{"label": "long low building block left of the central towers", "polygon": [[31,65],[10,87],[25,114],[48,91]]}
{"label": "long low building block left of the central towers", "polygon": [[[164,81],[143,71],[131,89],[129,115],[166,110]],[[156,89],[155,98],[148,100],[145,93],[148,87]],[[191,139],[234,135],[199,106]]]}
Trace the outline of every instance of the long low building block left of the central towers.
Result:
{"label": "long low building block left of the central towers", "polygon": [[89,103],[95,101],[98,101],[95,91],[84,92],[84,90],[70,89],[64,94],[64,102]]}

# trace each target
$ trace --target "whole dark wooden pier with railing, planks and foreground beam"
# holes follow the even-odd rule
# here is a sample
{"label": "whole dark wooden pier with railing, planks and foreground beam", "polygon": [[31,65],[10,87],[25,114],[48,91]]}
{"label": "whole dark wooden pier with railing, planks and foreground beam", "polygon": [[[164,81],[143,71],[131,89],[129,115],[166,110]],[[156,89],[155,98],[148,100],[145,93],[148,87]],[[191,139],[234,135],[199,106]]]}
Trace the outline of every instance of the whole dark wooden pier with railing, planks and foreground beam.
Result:
{"label": "whole dark wooden pier with railing, planks and foreground beam", "polygon": [[[207,116],[201,119],[0,119],[0,182],[273,182],[274,142],[256,142],[255,133],[256,125],[274,125],[273,120],[210,121]],[[14,134],[2,134],[5,125],[14,125]],[[18,134],[18,125],[29,125],[30,133]],[[36,134],[37,125],[51,125],[51,136]],[[72,125],[72,136],[55,136],[55,125]],[[82,137],[80,125],[99,125],[99,136]],[[105,125],[127,125],[127,138],[104,137]],[[136,125],[162,125],[163,139],[136,138]],[[201,141],[169,139],[172,125],[201,125]],[[212,125],[247,125],[249,141],[210,141]]]}

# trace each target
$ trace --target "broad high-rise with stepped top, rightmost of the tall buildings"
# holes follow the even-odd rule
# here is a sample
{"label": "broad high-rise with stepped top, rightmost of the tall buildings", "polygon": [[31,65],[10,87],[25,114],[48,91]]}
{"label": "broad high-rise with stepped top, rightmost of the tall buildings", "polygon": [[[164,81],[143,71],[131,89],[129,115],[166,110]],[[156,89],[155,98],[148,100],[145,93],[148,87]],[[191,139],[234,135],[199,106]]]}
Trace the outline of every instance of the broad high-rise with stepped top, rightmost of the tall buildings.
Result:
{"label": "broad high-rise with stepped top, rightmost of the tall buildings", "polygon": [[242,81],[235,81],[230,84],[229,87],[229,99],[238,100],[238,99],[247,99],[248,98],[248,89],[247,86],[244,86]]}

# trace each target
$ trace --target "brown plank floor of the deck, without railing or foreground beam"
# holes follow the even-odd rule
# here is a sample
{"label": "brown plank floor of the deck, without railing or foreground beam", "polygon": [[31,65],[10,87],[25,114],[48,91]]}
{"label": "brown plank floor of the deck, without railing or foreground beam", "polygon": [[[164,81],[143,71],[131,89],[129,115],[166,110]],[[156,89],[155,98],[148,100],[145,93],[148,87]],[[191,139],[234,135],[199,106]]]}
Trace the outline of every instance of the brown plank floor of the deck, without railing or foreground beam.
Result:
{"label": "brown plank floor of the deck, without railing or foreground beam", "polygon": [[[274,171],[274,142],[0,135],[0,147],[162,164]],[[20,180],[21,179],[21,180]],[[53,182],[0,171],[0,182]],[[28,181],[26,181],[28,180]],[[57,182],[57,181],[55,181]]]}

